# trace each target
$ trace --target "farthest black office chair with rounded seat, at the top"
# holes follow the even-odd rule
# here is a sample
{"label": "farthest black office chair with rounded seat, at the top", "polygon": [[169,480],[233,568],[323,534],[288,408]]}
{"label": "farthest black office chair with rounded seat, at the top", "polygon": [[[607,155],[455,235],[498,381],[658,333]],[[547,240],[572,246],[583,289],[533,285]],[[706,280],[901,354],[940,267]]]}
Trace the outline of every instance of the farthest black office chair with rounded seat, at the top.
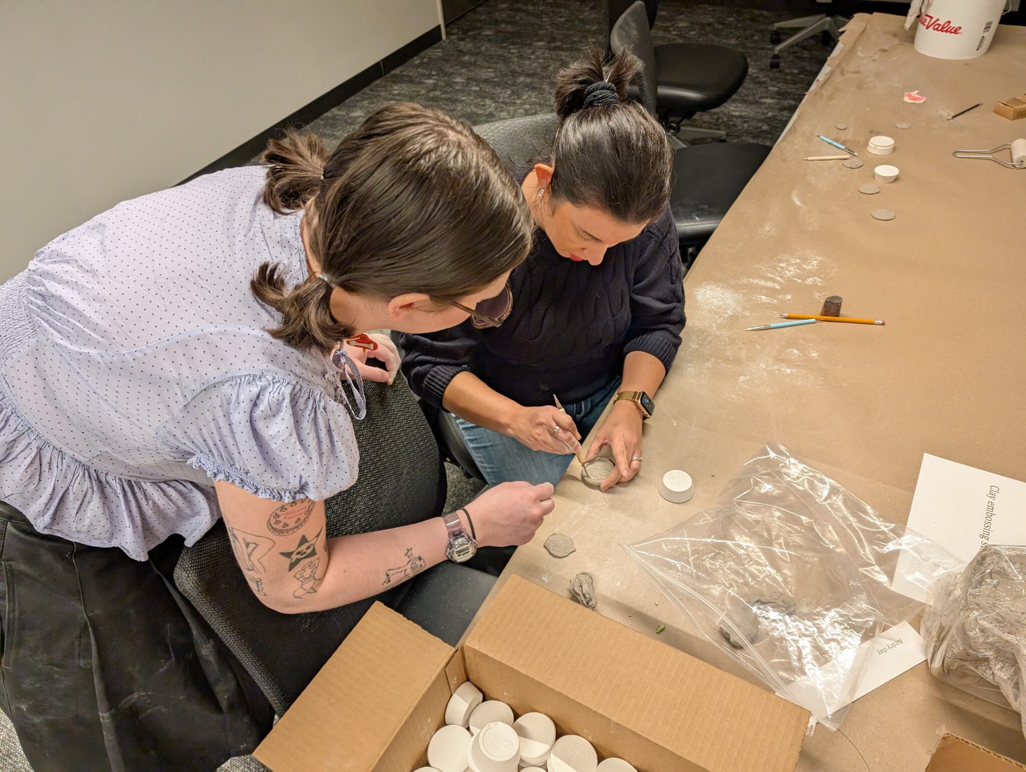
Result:
{"label": "farthest black office chair with rounded seat, at the top", "polygon": [[[613,28],[632,5],[632,0],[603,0],[606,40]],[[652,29],[659,10],[656,0],[645,0],[645,19]],[[611,48],[611,46],[610,46]],[[664,43],[653,48],[653,68],[647,77],[656,83],[656,106],[660,120],[670,134],[681,140],[724,139],[726,133],[681,121],[704,113],[729,99],[745,82],[748,58],[741,51],[713,43]]]}

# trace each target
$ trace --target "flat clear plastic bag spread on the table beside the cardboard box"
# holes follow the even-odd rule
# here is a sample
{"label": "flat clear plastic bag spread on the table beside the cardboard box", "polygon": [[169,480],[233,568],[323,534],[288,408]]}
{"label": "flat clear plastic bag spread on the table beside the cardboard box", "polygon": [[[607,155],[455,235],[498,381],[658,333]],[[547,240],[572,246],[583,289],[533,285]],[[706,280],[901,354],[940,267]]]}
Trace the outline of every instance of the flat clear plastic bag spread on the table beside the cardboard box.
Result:
{"label": "flat clear plastic bag spread on the table beside the cardboard box", "polygon": [[898,558],[917,586],[964,566],[776,443],[717,507],[625,548],[710,641],[831,729],[855,698],[859,647],[922,608],[891,588]]}

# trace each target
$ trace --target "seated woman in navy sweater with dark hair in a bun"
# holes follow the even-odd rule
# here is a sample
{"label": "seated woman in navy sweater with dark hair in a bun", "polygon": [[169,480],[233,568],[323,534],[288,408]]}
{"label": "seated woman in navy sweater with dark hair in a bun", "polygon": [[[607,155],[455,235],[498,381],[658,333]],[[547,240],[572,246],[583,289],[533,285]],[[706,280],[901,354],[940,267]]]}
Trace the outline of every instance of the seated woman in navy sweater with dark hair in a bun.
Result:
{"label": "seated woman in navy sweater with dark hair in a bun", "polygon": [[413,391],[456,414],[491,485],[555,484],[609,399],[585,458],[610,446],[603,490],[641,468],[641,423],[676,356],[684,300],[672,151],[625,93],[640,68],[627,52],[605,64],[595,53],[559,74],[552,152],[513,170],[537,229],[507,314],[400,336]]}

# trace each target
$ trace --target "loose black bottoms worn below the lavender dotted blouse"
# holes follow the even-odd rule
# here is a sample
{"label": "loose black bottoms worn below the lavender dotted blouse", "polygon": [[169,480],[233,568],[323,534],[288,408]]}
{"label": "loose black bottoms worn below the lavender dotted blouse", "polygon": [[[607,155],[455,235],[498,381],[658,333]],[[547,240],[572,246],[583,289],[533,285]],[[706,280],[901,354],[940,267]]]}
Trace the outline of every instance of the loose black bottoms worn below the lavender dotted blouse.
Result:
{"label": "loose black bottoms worn below the lavender dotted blouse", "polygon": [[37,532],[0,501],[0,707],[35,772],[212,770],[273,712],[171,581],[147,562]]}

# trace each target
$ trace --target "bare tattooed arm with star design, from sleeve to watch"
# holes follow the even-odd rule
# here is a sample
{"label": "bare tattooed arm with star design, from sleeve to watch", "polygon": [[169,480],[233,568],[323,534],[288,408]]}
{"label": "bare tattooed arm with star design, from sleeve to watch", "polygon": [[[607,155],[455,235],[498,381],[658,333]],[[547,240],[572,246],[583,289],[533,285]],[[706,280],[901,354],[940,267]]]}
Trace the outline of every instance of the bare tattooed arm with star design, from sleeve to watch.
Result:
{"label": "bare tattooed arm with star design, from sleeve to watch", "polygon": [[214,487],[235,559],[256,597],[275,611],[344,606],[445,560],[448,535],[440,518],[329,539],[323,501],[283,503],[230,483]]}

